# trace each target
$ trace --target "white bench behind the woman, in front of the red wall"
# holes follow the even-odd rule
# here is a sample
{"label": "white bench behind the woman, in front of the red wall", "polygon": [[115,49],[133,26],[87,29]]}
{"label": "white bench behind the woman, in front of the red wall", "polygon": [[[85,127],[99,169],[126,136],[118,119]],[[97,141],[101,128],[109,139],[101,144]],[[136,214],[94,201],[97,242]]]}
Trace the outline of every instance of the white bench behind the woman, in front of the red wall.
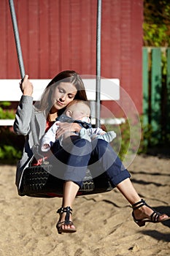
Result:
{"label": "white bench behind the woman, in front of the red wall", "polygon": [[[85,84],[85,90],[88,95],[88,100],[95,102],[96,99],[96,79],[85,78],[82,79]],[[31,79],[34,85],[34,101],[39,100],[50,79]],[[17,79],[0,79],[0,102],[19,102],[22,95],[19,86],[20,80]],[[120,99],[120,81],[119,79],[104,79],[101,78],[101,100],[118,100]],[[91,105],[94,113],[95,103]],[[95,115],[94,115],[95,116]],[[124,118],[115,118],[110,120],[112,124],[121,124]],[[0,119],[0,126],[12,126],[14,120]],[[101,124],[104,120],[101,119]]]}

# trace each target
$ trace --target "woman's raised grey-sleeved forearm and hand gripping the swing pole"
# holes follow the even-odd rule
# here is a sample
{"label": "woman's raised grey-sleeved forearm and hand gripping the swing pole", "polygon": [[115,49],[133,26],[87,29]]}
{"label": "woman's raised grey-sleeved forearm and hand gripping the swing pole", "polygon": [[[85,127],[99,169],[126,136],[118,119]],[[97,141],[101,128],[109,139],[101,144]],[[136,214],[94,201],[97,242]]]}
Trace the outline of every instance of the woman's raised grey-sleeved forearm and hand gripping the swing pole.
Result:
{"label": "woman's raised grey-sleeved forearm and hand gripping the swing pole", "polygon": [[20,83],[20,89],[23,95],[18,105],[13,128],[18,135],[27,135],[33,110],[33,86],[28,80],[28,75],[25,75],[23,82]]}

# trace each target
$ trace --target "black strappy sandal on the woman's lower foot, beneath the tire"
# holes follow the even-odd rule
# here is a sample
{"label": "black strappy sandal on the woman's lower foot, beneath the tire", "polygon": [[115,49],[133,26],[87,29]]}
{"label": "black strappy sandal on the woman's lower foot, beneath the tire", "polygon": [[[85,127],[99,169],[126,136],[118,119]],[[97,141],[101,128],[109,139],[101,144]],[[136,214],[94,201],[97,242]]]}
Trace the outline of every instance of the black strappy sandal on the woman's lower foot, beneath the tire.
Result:
{"label": "black strappy sandal on the woman's lower foot, beneath the tire", "polygon": [[58,234],[76,232],[75,227],[74,228],[69,228],[69,229],[63,229],[62,228],[62,225],[74,225],[73,222],[71,222],[69,220],[69,216],[70,216],[70,214],[72,214],[72,208],[70,208],[70,206],[59,208],[58,211],[57,211],[57,214],[61,215],[63,213],[66,213],[65,220],[63,222],[58,221],[58,223],[56,225],[56,228],[58,230]]}

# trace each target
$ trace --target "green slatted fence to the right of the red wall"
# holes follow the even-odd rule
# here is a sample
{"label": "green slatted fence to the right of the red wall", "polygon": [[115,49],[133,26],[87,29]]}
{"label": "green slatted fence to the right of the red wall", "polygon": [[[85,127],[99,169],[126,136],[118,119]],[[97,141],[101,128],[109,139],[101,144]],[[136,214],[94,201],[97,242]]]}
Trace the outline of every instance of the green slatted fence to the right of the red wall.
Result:
{"label": "green slatted fence to the right of the red wall", "polygon": [[170,141],[170,48],[143,48],[143,124],[149,143]]}

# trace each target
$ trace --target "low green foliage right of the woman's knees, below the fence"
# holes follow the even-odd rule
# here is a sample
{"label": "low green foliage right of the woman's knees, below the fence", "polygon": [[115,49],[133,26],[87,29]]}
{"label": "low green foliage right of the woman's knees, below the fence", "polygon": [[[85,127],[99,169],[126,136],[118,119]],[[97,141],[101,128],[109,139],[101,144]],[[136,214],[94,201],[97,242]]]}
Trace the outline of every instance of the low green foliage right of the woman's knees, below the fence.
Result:
{"label": "low green foliage right of the woman's knees, below the fence", "polygon": [[[117,125],[107,126],[107,131],[114,130],[117,134],[117,138],[115,138],[115,140],[113,140],[110,144],[122,161],[128,155],[148,154],[151,151],[156,150],[157,148],[163,152],[163,148],[167,148],[168,145],[170,145],[170,135],[166,135],[166,140],[158,141],[158,137],[155,136],[152,126],[150,124],[147,124],[147,125],[143,124],[143,116],[140,117],[140,122],[141,122],[141,134],[139,133],[138,126],[136,127],[134,126],[133,132],[132,132],[129,122],[127,120],[125,121],[124,124],[120,124],[118,126]],[[140,135],[141,135],[141,140],[139,143],[139,147],[137,147],[136,141],[137,140],[139,141]]]}

